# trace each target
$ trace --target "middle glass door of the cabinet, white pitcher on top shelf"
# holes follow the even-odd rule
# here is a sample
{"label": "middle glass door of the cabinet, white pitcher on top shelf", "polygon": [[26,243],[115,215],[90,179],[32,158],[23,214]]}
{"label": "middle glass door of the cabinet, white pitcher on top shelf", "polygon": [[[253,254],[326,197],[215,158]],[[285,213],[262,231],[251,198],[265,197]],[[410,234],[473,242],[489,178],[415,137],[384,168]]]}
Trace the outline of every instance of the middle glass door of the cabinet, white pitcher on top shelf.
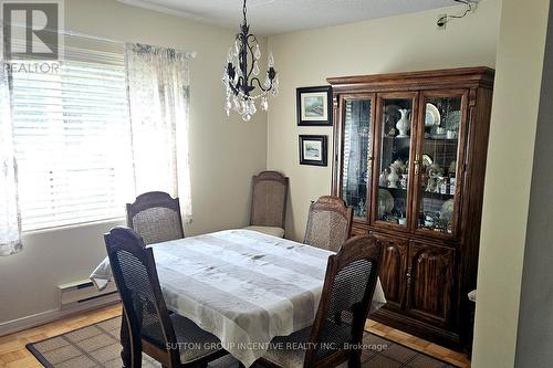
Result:
{"label": "middle glass door of the cabinet, white pitcher on top shelf", "polygon": [[375,169],[375,221],[384,227],[408,227],[409,166],[415,138],[416,94],[378,97],[378,147]]}

